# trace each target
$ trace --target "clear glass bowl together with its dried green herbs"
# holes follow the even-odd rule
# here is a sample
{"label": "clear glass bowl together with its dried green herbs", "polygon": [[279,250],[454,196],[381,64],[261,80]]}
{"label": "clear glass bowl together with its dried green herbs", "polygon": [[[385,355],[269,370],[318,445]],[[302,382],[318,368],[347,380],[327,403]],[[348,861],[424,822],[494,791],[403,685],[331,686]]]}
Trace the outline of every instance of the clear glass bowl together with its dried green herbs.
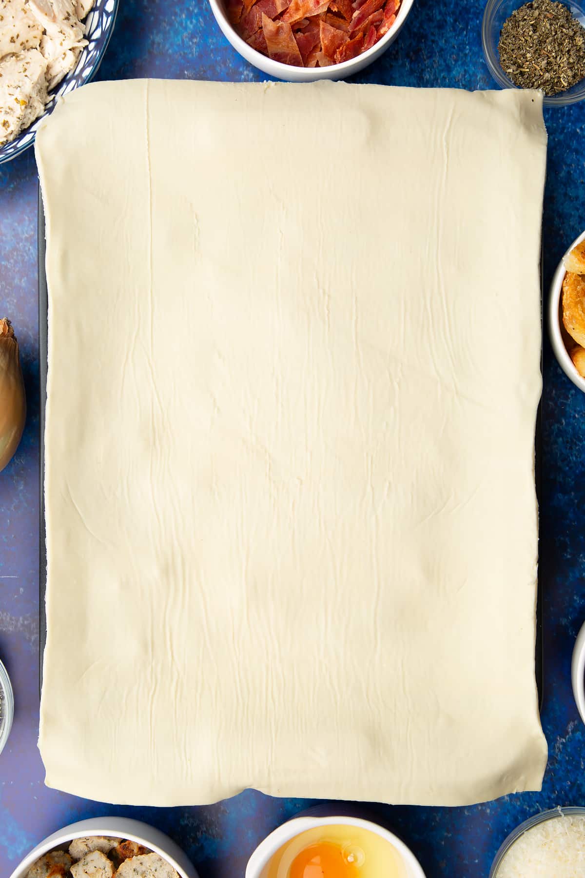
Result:
{"label": "clear glass bowl together with its dried green herbs", "polygon": [[483,54],[503,89],[537,89],[545,106],[585,97],[585,0],[488,0]]}

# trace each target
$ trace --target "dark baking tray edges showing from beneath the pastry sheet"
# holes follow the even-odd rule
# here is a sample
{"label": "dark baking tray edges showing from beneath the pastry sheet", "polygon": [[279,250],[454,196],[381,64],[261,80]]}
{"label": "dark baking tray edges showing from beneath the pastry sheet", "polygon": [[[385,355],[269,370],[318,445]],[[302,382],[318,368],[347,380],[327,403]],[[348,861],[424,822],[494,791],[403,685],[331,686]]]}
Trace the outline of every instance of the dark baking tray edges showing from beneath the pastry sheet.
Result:
{"label": "dark baking tray edges showing from beneath the pastry sheet", "polygon": [[[39,577],[39,691],[43,683],[43,653],[46,643],[46,542],[45,542],[45,405],[46,405],[46,371],[48,356],[48,291],[46,289],[45,270],[45,212],[39,186],[39,221],[38,221],[38,260],[39,260],[39,357],[40,357],[40,577]],[[541,248],[541,253],[542,253]],[[540,277],[542,278],[542,256],[540,265]],[[542,291],[541,291],[542,301]],[[542,371],[542,356],[540,368]],[[536,416],[535,435],[535,471],[536,493],[540,502],[541,486],[540,473],[542,454],[542,414],[541,406]],[[536,613],[536,682],[539,689],[539,705],[542,707],[544,656],[542,646],[542,587],[540,578],[537,590],[537,613]]]}

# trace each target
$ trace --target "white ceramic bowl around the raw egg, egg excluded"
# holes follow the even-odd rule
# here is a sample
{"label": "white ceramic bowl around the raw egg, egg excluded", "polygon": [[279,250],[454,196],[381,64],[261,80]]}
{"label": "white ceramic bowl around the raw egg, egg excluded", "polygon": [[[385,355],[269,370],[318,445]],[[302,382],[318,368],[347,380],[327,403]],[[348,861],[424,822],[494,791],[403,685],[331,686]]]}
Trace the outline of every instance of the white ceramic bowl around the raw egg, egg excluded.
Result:
{"label": "white ceramic bowl around the raw egg, egg excluded", "polygon": [[343,814],[329,817],[317,817],[307,815],[306,817],[293,817],[288,823],[282,824],[274,832],[264,839],[256,848],[248,865],[246,866],[246,878],[263,878],[264,870],[268,866],[270,860],[275,853],[280,850],[291,838],[296,838],[301,832],[314,829],[316,826],[332,826],[342,824],[344,826],[360,826],[376,835],[385,838],[390,845],[394,846],[403,860],[405,869],[404,878],[424,878],[424,872],[420,867],[417,858],[409,850],[400,838],[396,838],[392,832],[383,829],[382,826],[372,823],[370,820],[363,820],[360,817],[345,817]]}

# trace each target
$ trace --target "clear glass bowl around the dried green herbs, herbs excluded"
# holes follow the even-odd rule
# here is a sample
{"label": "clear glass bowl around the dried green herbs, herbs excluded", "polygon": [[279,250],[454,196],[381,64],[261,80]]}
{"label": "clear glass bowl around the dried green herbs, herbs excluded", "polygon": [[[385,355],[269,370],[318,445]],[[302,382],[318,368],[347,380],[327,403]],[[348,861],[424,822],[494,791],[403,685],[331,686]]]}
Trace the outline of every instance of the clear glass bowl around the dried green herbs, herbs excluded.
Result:
{"label": "clear glass bowl around the dried green herbs, herbs excluded", "polygon": [[[565,2],[565,0],[563,0]],[[486,63],[496,83],[503,89],[517,89],[517,85],[505,75],[500,67],[500,56],[497,44],[500,41],[500,31],[506,18],[510,18],[513,11],[524,5],[524,0],[488,0],[482,21],[482,46]],[[574,18],[585,26],[585,0],[567,0],[565,5],[571,10]],[[548,97],[545,95],[543,103],[546,107],[563,107],[568,104],[576,104],[585,97],[585,79],[576,83],[567,91]]]}

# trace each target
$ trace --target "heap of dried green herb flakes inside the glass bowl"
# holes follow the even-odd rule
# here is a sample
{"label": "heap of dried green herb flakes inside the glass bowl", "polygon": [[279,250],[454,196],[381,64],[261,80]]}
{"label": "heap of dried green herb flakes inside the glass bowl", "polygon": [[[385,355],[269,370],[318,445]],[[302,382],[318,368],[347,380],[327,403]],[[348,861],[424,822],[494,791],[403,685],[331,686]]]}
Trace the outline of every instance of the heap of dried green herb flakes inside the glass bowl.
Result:
{"label": "heap of dried green herb flakes inside the glass bowl", "polygon": [[585,78],[585,28],[565,4],[532,0],[503,23],[503,72],[521,89],[556,95]]}

